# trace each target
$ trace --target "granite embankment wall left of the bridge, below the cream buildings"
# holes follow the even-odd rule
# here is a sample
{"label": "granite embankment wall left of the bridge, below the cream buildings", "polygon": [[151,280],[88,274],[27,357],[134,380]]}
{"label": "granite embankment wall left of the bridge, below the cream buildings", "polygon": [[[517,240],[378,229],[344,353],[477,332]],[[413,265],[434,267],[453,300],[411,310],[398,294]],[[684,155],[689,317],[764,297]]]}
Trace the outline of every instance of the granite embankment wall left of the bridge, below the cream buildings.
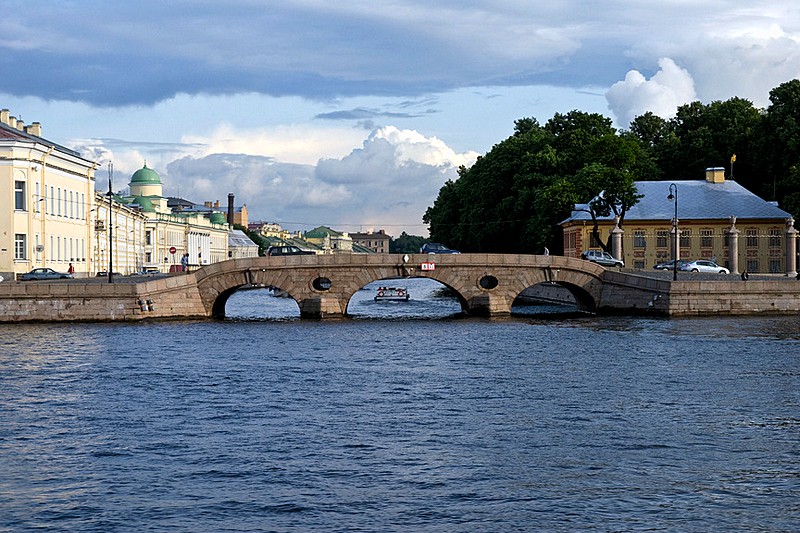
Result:
{"label": "granite embankment wall left of the bridge, below the cream buildings", "polygon": [[100,280],[0,283],[0,322],[205,318],[194,275],[142,283]]}

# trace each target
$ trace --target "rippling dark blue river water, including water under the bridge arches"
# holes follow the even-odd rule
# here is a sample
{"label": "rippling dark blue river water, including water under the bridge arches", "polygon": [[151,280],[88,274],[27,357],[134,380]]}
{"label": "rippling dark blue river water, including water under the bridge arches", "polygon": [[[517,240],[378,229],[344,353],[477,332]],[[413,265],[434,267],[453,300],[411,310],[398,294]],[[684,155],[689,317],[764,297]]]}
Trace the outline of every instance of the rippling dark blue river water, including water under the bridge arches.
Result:
{"label": "rippling dark blue river water, including water under the bridge arches", "polygon": [[800,530],[796,317],[460,318],[409,283],[0,326],[0,532]]}

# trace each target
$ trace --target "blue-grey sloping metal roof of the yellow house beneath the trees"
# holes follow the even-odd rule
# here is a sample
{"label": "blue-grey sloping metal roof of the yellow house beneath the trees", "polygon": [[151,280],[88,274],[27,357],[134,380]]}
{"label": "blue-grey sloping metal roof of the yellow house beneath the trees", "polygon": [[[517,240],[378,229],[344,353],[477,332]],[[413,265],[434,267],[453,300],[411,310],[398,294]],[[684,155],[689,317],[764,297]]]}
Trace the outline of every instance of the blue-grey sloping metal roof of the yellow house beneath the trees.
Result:
{"label": "blue-grey sloping metal roof of the yellow house beneath the trees", "polygon": [[[680,220],[727,220],[731,216],[746,219],[787,219],[791,215],[748,191],[737,182],[725,180],[711,183],[706,180],[683,181],[637,181],[639,194],[644,195],[639,202],[625,214],[625,221],[672,220],[675,204],[667,199],[670,184],[678,191],[678,219]],[[586,211],[586,204],[576,205],[575,210],[562,224],[568,222],[590,221],[592,216]],[[612,216],[602,220],[611,220]]]}

